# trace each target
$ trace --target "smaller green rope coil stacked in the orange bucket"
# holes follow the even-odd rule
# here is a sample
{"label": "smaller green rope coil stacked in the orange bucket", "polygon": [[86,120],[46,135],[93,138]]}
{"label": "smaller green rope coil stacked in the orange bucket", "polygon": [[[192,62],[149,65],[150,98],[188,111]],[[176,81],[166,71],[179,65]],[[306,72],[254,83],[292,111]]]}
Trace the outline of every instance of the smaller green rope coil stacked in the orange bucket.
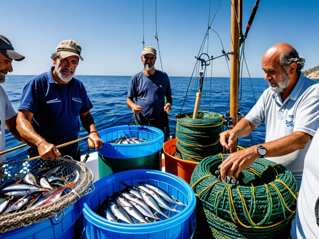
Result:
{"label": "smaller green rope coil stacked in the orange bucket", "polygon": [[178,114],[175,129],[176,147],[185,160],[197,161],[216,154],[219,134],[223,131],[224,116],[200,111],[197,119],[193,112]]}

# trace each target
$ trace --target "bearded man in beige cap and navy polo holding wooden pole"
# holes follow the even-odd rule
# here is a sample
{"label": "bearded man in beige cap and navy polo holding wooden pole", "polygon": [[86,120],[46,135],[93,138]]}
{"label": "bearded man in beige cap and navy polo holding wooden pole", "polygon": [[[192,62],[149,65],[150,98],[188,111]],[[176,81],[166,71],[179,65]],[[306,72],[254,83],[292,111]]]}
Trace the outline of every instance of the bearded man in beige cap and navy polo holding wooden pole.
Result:
{"label": "bearded man in beige cap and navy polo holding wooden pole", "polygon": [[90,113],[93,108],[81,81],[74,78],[81,57],[81,47],[73,40],[63,40],[52,54],[55,67],[31,78],[23,89],[17,129],[35,145],[31,157],[59,159],[69,155],[80,160],[78,143],[57,149],[56,146],[79,138],[80,122],[89,133],[89,147],[99,150],[103,141],[95,129]]}

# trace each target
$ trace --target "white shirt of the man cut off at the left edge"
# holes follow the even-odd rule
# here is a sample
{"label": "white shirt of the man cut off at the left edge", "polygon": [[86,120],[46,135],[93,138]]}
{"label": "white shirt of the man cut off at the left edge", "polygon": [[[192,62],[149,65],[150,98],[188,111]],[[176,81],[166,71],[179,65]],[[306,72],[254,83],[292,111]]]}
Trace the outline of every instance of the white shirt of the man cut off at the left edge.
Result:
{"label": "white shirt of the man cut off at the left edge", "polygon": [[[5,121],[15,116],[17,112],[13,109],[7,92],[0,84],[0,152],[5,150]],[[5,154],[0,155],[0,163],[4,162]]]}

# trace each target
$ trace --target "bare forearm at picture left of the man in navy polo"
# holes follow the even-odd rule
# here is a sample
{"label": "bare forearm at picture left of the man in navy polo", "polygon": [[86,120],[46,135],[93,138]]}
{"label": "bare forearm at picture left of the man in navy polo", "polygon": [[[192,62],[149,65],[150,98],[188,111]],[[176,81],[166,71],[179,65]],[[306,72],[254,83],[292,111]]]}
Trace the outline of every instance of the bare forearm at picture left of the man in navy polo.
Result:
{"label": "bare forearm at picture left of the man in navy polo", "polygon": [[17,117],[17,131],[26,143],[35,147],[39,147],[42,141],[45,141],[39,134],[37,134],[31,123],[26,119],[26,116],[22,112],[18,112]]}

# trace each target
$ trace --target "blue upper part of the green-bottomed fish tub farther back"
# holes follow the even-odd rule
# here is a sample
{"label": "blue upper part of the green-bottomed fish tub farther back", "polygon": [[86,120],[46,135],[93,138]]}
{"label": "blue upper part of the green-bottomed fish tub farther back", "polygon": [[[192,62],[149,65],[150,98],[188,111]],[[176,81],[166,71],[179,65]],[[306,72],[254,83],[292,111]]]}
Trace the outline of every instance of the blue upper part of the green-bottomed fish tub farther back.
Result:
{"label": "blue upper part of the green-bottomed fish tub farther back", "polygon": [[[164,133],[158,128],[149,126],[116,126],[99,132],[104,142],[98,153],[109,158],[137,158],[159,152],[164,144]],[[134,144],[110,143],[120,137],[136,136],[139,139],[150,140]]]}

